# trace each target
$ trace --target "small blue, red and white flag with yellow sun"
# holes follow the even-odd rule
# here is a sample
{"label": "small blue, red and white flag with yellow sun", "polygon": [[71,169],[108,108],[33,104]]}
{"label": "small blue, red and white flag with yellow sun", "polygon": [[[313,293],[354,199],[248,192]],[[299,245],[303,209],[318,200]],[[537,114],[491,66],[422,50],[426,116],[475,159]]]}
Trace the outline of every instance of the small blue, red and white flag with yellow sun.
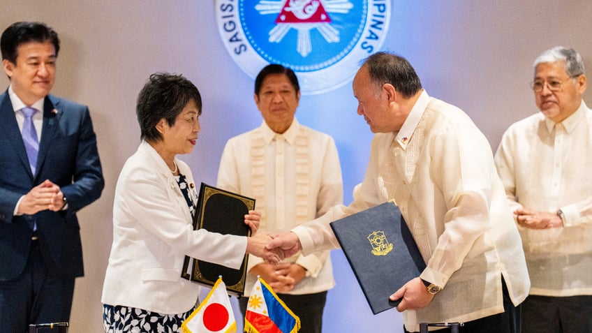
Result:
{"label": "small blue, red and white flag with yellow sun", "polygon": [[244,317],[247,333],[296,333],[300,318],[277,297],[274,290],[259,278],[253,286]]}

